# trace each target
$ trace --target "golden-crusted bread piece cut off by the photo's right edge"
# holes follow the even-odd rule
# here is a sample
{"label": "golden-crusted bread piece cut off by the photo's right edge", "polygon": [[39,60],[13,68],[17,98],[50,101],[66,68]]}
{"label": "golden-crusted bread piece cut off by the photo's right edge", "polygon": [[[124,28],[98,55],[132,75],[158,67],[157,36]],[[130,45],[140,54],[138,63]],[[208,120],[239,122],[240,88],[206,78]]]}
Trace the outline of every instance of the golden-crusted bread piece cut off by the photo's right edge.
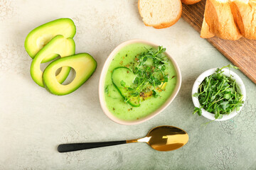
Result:
{"label": "golden-crusted bread piece cut off by the photo's right edge", "polygon": [[248,39],[256,40],[256,2],[252,0],[234,0],[230,7],[240,33]]}

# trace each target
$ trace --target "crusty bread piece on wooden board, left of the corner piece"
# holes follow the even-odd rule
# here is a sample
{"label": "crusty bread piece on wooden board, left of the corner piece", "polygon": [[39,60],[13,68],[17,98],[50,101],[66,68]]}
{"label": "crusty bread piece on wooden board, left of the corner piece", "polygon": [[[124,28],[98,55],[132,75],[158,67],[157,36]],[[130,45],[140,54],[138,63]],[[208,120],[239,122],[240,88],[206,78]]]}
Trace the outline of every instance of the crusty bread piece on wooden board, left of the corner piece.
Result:
{"label": "crusty bread piece on wooden board, left of the corner piece", "polygon": [[228,0],[207,0],[204,16],[210,33],[225,40],[241,38]]}

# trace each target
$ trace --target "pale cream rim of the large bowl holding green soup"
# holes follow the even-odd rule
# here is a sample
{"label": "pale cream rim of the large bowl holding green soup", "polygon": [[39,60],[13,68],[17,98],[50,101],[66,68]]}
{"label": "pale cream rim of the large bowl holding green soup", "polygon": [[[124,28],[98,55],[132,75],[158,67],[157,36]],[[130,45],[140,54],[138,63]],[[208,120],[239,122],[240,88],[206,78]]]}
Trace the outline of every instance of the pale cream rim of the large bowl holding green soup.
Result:
{"label": "pale cream rim of the large bowl holding green soup", "polygon": [[178,67],[178,64],[175,62],[174,58],[172,58],[171,55],[168,54],[168,52],[164,52],[164,55],[166,55],[166,57],[168,57],[169,60],[171,60],[172,64],[174,65],[175,70],[176,70],[176,77],[177,77],[176,87],[175,87],[173,93],[171,94],[171,96],[167,99],[167,101],[160,108],[158,108],[156,111],[147,115],[144,118],[140,118],[139,120],[132,120],[132,121],[121,120],[121,119],[115,117],[114,115],[112,115],[112,113],[110,113],[110,111],[107,109],[107,106],[106,106],[106,103],[105,103],[105,94],[104,94],[105,93],[104,84],[105,84],[105,77],[106,77],[106,74],[107,74],[107,69],[110,67],[110,63],[112,62],[112,59],[117,54],[117,52],[119,52],[119,50],[121,50],[123,47],[125,47],[127,45],[130,45],[130,44],[133,44],[133,43],[144,43],[144,44],[147,44],[147,45],[151,45],[152,47],[158,47],[159,46],[159,45],[155,45],[154,43],[146,41],[146,40],[128,40],[128,41],[122,42],[122,44],[120,44],[116,48],[114,48],[114,50],[107,57],[107,60],[104,64],[104,66],[102,68],[102,72],[100,74],[100,82],[99,82],[100,106],[102,107],[102,110],[107,115],[107,117],[109,117],[114,122],[122,124],[122,125],[136,125],[136,124],[143,123],[144,121],[153,118],[155,115],[159,114],[161,111],[164,111],[164,109],[167,106],[169,106],[169,104],[171,103],[171,101],[174,100],[174,98],[178,94],[179,89],[181,88],[181,71]]}

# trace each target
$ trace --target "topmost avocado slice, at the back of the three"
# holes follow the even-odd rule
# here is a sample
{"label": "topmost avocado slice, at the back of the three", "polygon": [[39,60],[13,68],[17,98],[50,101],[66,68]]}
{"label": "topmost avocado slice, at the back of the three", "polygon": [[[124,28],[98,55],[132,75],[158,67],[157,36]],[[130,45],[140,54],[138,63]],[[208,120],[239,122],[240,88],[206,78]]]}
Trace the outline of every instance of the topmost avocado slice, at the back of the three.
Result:
{"label": "topmost avocado slice, at the back of the three", "polygon": [[[31,58],[34,58],[36,53],[56,35],[73,38],[75,31],[75,24],[70,18],[59,18],[45,23],[28,33],[24,45],[26,52]],[[48,62],[49,60],[46,57],[43,62]]]}

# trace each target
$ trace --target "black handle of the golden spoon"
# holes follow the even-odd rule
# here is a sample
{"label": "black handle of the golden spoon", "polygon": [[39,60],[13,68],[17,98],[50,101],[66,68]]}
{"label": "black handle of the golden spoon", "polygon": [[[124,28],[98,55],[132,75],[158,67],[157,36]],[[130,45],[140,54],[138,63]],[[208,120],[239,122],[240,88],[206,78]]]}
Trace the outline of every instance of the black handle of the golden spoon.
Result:
{"label": "black handle of the golden spoon", "polygon": [[83,149],[91,149],[96,147],[107,147],[112,145],[126,144],[126,140],[111,141],[111,142],[91,142],[91,143],[72,143],[58,145],[58,152],[72,152]]}

